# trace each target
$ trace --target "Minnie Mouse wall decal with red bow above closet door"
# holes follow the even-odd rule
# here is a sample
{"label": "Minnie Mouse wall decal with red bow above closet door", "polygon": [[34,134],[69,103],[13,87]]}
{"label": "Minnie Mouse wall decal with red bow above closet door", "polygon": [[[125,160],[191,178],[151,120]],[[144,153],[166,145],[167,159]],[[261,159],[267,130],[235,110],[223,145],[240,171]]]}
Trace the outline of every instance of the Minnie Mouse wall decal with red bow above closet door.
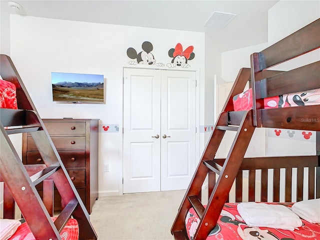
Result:
{"label": "Minnie Mouse wall decal with red bow above closet door", "polygon": [[167,67],[181,66],[183,68],[190,67],[187,63],[188,60],[192,60],[195,56],[193,52],[193,46],[188,46],[184,51],[182,50],[181,43],[177,43],[175,48],[170,48],[168,51],[170,57],[173,57],[171,63],[167,63]]}

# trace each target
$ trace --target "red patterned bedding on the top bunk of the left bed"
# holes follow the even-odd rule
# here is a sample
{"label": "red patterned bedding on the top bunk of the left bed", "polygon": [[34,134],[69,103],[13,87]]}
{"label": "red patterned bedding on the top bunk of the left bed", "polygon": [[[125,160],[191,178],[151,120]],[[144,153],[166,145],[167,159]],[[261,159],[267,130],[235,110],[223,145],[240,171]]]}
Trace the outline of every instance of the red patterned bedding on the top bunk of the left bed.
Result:
{"label": "red patterned bedding on the top bunk of the left bed", "polygon": [[15,85],[0,79],[0,108],[17,108]]}

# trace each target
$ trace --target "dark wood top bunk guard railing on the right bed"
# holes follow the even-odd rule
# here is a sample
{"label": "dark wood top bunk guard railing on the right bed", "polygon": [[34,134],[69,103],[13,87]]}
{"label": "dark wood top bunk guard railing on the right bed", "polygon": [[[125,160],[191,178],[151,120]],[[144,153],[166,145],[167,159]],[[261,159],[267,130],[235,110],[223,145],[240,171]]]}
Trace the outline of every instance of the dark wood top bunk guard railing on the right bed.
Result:
{"label": "dark wood top bunk guard railing on the right bed", "polygon": [[[287,107],[285,110],[284,108],[263,109],[263,105],[257,104],[257,102],[261,102],[260,99],[265,97],[320,88],[319,60],[282,73],[264,76],[264,72],[270,67],[319,47],[320,18],[264,50],[251,54],[252,108],[255,126],[320,130],[320,118],[316,113],[320,110],[319,105],[300,107],[297,111],[296,109],[288,109],[291,107]],[[303,116],[306,117],[305,122],[310,120],[308,126],[301,124]],[[280,123],[281,121],[284,123]]]}

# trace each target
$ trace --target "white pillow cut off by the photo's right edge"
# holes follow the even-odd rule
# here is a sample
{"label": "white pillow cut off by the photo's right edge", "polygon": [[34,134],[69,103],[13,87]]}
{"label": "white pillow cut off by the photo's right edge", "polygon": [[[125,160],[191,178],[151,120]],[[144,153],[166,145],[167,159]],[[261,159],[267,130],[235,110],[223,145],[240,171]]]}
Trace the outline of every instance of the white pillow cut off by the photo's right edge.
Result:
{"label": "white pillow cut off by the photo's right edge", "polygon": [[320,198],[295,202],[292,211],[311,223],[320,223]]}

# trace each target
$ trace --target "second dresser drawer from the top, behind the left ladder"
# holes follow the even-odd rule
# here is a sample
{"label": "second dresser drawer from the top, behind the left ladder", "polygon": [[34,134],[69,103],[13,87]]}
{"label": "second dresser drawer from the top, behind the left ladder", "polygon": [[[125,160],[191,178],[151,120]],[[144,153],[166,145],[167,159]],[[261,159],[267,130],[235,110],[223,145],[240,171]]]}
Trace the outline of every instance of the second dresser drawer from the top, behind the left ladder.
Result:
{"label": "second dresser drawer from the top, behind the left ladder", "polygon": [[[85,148],[85,136],[51,136],[56,149]],[[31,136],[27,137],[27,150],[37,149]]]}

